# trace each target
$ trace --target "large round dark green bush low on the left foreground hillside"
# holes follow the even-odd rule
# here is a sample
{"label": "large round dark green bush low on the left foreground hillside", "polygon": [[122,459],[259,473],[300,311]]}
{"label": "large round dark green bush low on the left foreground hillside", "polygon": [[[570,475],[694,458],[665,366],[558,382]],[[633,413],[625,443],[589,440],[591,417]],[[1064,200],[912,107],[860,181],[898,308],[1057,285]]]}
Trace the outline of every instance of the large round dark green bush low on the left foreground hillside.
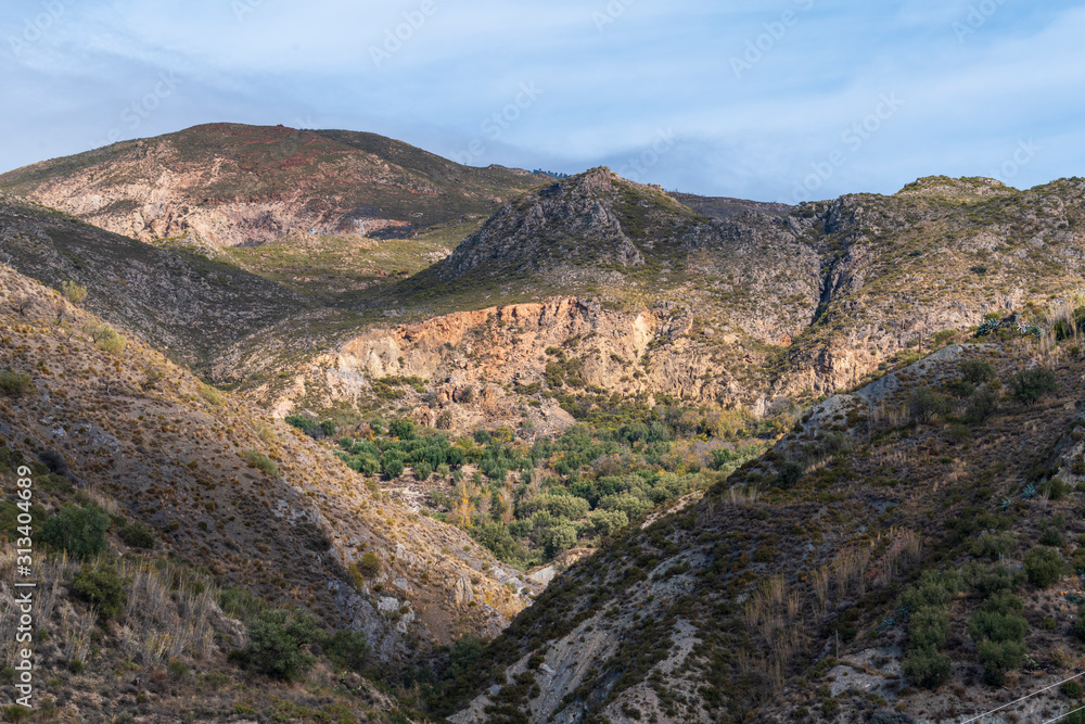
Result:
{"label": "large round dark green bush low on the left foreground hillside", "polygon": [[311,613],[271,609],[248,624],[244,660],[264,673],[291,679],[304,674],[316,661],[307,647],[318,643],[320,630]]}

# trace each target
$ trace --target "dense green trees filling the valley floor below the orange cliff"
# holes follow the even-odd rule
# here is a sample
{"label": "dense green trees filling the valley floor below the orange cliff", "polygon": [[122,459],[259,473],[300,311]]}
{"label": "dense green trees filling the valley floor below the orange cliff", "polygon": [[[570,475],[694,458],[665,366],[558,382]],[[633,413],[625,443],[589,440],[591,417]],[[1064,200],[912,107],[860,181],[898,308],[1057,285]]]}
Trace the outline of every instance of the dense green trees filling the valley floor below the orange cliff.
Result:
{"label": "dense green trees filling the valley floor below the orange cliff", "polygon": [[[431,516],[527,569],[570,548],[598,547],[656,506],[701,491],[764,450],[766,440],[748,435],[768,437],[771,425],[748,430],[717,417],[661,406],[642,422],[579,424],[534,442],[508,428],[450,440],[410,420],[375,418],[363,434],[341,437],[335,455],[368,477],[394,480],[410,467],[431,488]],[[291,416],[288,422],[309,434],[331,431],[330,421]]]}

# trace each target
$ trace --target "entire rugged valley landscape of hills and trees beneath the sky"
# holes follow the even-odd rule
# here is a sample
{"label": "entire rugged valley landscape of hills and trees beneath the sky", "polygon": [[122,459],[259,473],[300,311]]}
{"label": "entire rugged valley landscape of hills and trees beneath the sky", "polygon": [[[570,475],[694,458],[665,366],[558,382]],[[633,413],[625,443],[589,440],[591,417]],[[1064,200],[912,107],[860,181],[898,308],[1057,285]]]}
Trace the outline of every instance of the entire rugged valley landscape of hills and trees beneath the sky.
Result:
{"label": "entire rugged valley landscape of hills and trees beneath the sky", "polygon": [[905,724],[1054,686],[1085,640],[1083,266],[1078,178],[788,206],[235,124],[0,175],[39,696]]}

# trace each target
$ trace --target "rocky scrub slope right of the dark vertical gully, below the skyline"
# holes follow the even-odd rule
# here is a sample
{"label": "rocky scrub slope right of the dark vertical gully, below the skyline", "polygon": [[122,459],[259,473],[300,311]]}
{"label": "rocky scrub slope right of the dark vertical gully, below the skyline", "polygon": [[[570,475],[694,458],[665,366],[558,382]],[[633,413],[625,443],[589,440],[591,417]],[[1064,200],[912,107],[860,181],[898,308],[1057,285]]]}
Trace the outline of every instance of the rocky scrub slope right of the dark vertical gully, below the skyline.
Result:
{"label": "rocky scrub slope right of the dark vertical gully, below the skyline", "polygon": [[1082,179],[1019,191],[930,177],[893,196],[843,196],[789,218],[821,256],[824,281],[775,385],[784,394],[854,386],[894,355],[930,350],[940,332],[1081,289]]}

